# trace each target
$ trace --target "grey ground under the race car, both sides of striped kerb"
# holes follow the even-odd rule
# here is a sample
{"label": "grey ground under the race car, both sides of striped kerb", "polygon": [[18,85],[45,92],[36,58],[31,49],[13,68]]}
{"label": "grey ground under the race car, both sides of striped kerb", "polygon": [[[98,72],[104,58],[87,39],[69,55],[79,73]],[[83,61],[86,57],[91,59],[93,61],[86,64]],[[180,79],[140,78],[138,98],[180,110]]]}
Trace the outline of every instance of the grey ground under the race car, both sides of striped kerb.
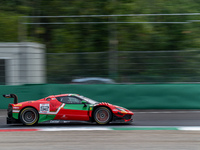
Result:
{"label": "grey ground under the race car, both sides of striped kerb", "polygon": [[[137,128],[200,127],[200,110],[133,110],[132,124],[40,124],[37,128]],[[0,110],[0,129],[30,128],[6,125],[6,111]],[[81,130],[0,132],[0,150],[200,150],[200,131],[182,130]]]}

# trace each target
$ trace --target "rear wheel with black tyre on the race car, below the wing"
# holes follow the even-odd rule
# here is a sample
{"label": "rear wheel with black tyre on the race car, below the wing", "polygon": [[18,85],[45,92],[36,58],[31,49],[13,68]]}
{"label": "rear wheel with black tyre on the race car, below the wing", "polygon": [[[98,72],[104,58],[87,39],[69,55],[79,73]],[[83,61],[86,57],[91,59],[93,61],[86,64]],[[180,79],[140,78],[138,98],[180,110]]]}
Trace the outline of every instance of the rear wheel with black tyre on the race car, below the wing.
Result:
{"label": "rear wheel with black tyre on the race car, below the wing", "polygon": [[35,125],[38,123],[39,114],[38,111],[32,107],[24,108],[20,113],[20,121],[24,125]]}

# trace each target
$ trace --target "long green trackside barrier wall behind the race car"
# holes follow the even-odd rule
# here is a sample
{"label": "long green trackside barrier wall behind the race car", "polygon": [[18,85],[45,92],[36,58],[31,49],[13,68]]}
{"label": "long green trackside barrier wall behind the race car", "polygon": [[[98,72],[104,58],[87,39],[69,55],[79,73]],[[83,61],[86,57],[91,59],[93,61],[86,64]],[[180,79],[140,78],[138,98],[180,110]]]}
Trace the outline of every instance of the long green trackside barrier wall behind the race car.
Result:
{"label": "long green trackside barrier wall behind the race car", "polygon": [[13,103],[12,98],[1,96],[11,93],[17,94],[19,102],[74,93],[128,109],[200,109],[200,84],[1,85],[0,89],[0,109]]}

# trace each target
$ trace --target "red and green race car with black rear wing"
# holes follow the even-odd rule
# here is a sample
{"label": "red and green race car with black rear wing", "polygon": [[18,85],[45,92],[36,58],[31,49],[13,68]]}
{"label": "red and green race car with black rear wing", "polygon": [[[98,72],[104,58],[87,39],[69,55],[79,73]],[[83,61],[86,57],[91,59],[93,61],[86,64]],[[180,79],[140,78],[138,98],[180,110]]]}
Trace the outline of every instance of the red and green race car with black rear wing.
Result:
{"label": "red and green race car with black rear wing", "polygon": [[106,102],[97,102],[78,94],[51,95],[36,101],[18,103],[16,94],[3,95],[14,98],[14,104],[7,109],[7,124],[22,123],[36,125],[38,123],[65,123],[70,121],[130,123],[134,113],[123,107]]}

